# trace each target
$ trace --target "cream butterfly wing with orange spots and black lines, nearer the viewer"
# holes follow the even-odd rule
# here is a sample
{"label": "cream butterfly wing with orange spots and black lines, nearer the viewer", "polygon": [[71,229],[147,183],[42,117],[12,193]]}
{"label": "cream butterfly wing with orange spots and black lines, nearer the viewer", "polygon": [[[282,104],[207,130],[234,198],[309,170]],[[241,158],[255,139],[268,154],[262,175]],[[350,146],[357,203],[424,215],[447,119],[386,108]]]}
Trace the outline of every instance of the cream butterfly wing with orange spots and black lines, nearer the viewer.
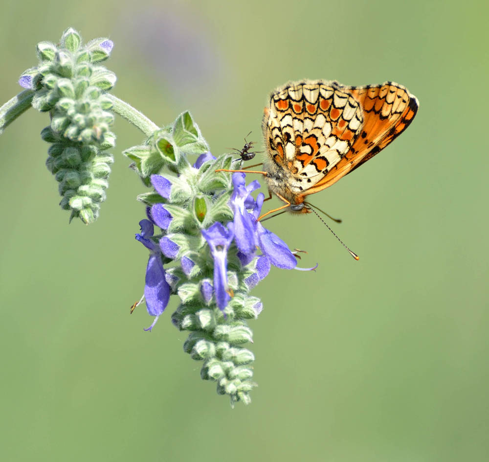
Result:
{"label": "cream butterfly wing with orange spots and black lines, nearer the viewer", "polygon": [[355,98],[331,82],[291,83],[272,93],[264,133],[271,160],[300,193],[348,153],[362,124]]}

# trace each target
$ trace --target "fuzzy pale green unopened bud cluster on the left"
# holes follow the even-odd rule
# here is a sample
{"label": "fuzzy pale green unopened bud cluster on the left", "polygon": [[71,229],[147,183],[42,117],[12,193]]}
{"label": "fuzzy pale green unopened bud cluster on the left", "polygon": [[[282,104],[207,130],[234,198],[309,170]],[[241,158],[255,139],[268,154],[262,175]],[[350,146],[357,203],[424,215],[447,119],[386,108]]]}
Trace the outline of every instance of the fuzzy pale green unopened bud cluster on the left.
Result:
{"label": "fuzzy pale green unopened bud cluster on the left", "polygon": [[55,175],[62,196],[61,207],[71,217],[91,223],[106,198],[113,162],[105,152],[114,147],[110,131],[114,116],[111,99],[104,93],[115,84],[115,74],[98,63],[112,49],[109,39],[81,45],[74,29],[67,29],[59,45],[37,45],[39,65],[27,69],[19,83],[35,91],[32,106],[49,112],[51,123],[42,138],[51,143],[46,166]]}

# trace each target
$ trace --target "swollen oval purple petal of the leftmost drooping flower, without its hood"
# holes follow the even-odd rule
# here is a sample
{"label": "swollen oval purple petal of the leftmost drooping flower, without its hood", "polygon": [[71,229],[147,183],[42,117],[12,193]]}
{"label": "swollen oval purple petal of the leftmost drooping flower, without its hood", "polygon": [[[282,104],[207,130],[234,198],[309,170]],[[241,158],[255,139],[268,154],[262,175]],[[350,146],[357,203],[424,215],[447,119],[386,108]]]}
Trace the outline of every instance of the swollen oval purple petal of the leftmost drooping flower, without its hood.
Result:
{"label": "swollen oval purple petal of the leftmost drooping flower, without its hood", "polygon": [[165,279],[165,270],[158,254],[150,255],[144,285],[144,298],[148,313],[159,316],[170,299],[170,286]]}

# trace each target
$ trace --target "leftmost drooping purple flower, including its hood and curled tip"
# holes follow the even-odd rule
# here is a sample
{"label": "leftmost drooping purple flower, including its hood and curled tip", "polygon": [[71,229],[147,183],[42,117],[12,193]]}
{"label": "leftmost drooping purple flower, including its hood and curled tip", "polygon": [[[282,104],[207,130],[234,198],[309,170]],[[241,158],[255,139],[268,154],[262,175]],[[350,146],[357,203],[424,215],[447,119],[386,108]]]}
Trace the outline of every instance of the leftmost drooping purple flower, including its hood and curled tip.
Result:
{"label": "leftmost drooping purple flower, including its hood and curled tip", "polygon": [[165,278],[165,270],[161,262],[158,246],[151,239],[154,233],[153,223],[149,220],[141,220],[139,226],[141,227],[141,233],[136,234],[136,239],[151,251],[146,267],[144,284],[146,309],[150,316],[155,316],[153,323],[144,330],[151,331],[159,316],[165,310],[166,305],[168,305],[170,286]]}

